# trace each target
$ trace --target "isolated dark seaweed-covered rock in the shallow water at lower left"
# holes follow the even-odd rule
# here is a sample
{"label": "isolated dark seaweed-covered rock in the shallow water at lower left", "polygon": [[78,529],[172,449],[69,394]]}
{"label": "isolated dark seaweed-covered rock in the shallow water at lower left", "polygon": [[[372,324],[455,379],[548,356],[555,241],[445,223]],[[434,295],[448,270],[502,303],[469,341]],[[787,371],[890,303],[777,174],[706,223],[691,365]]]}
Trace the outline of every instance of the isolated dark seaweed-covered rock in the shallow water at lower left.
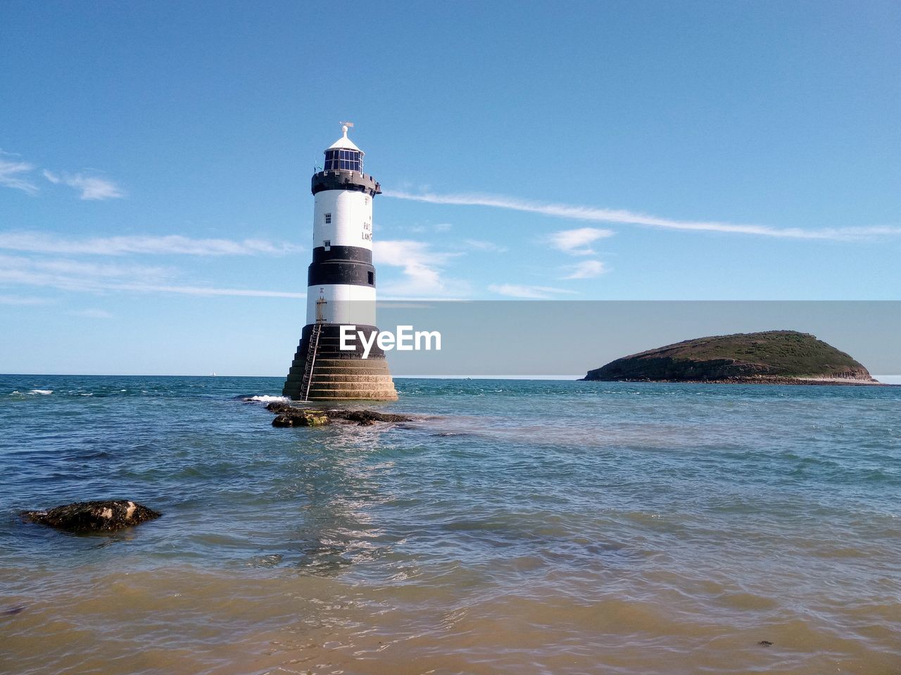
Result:
{"label": "isolated dark seaweed-covered rock in the shallow water at lower left", "polygon": [[23,511],[32,523],[56,527],[67,532],[115,532],[162,514],[127,500],[78,501],[48,511]]}

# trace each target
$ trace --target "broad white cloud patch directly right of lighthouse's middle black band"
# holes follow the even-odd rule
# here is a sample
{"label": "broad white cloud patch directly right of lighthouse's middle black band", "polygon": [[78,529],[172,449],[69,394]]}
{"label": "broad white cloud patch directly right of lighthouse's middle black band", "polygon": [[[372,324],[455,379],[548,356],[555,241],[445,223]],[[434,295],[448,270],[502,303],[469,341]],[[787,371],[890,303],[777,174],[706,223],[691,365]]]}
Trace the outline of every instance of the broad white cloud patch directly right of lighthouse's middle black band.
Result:
{"label": "broad white cloud patch directly right of lighthouse's middle black band", "polygon": [[431,244],[413,239],[387,239],[372,242],[372,258],[377,265],[401,267],[403,283],[379,284],[385,293],[402,296],[466,295],[467,284],[445,277],[441,267],[457,254],[432,250]]}

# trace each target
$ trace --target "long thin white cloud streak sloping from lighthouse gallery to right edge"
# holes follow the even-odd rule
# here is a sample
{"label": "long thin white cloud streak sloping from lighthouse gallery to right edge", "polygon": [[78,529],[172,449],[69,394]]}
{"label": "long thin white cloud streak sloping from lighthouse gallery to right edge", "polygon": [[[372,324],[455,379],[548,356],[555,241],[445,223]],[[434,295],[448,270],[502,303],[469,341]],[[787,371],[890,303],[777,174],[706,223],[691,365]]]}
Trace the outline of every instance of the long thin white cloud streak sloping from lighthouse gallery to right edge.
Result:
{"label": "long thin white cloud streak sloping from lighthouse gallery to right edge", "polygon": [[595,222],[621,223],[627,225],[646,225],[649,227],[680,229],[686,231],[726,232],[730,234],[751,234],[763,237],[796,238],[796,239],[833,239],[847,241],[851,239],[875,236],[899,235],[901,227],[874,226],[829,229],[773,228],[768,225],[743,225],[719,220],[675,220],[659,216],[625,211],[623,209],[603,209],[573,204],[532,202],[516,197],[505,197],[488,194],[435,194],[387,192],[388,197],[408,199],[414,202],[436,204],[460,204],[466,206],[493,206],[499,209],[512,209],[530,213],[542,213],[558,218],[591,220]]}

